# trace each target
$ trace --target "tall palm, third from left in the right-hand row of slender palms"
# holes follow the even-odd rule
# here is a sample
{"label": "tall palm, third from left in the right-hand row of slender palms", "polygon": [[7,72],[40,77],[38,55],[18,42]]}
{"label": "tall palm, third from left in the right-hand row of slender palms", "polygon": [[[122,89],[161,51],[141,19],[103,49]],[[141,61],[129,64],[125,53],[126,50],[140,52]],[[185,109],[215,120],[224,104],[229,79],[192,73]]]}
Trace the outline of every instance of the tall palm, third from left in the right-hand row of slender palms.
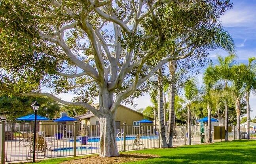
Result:
{"label": "tall palm, third from left in the right-hand row of slender palms", "polygon": [[224,86],[222,94],[225,100],[225,141],[228,141],[228,100],[229,100],[229,82],[232,78],[231,67],[234,63],[234,55],[225,58],[218,56],[218,65],[214,67],[217,82]]}

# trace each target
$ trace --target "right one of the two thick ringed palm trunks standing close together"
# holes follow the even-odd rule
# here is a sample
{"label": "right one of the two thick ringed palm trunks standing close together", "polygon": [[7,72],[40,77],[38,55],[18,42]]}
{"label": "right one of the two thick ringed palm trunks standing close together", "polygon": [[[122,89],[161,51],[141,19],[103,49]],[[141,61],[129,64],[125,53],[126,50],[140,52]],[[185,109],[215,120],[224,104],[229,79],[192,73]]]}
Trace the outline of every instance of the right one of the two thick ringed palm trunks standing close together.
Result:
{"label": "right one of the two thick ringed palm trunks standing close together", "polygon": [[169,71],[170,71],[170,88],[169,88],[169,125],[168,125],[168,136],[167,143],[168,147],[173,147],[173,135],[174,135],[174,124],[175,124],[175,72],[176,72],[176,60],[169,62]]}

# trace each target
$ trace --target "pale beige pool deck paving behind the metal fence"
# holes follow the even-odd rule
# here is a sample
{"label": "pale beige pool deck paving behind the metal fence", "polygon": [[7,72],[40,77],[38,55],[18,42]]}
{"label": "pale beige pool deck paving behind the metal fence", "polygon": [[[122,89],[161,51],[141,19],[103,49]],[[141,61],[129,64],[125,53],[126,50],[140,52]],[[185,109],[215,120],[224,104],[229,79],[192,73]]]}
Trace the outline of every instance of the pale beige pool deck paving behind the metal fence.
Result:
{"label": "pale beige pool deck paving behind the metal fence", "polygon": [[[159,139],[155,136],[152,139],[142,138],[143,145],[134,145],[134,139],[126,140],[125,150],[136,149],[148,149],[159,147]],[[78,139],[78,138],[77,138]],[[65,157],[74,155],[74,149],[65,149],[66,147],[74,147],[74,142],[70,142],[72,138],[64,138],[61,140],[55,140],[54,137],[46,137],[47,151],[36,152],[36,159],[53,158],[53,157]],[[187,141],[188,142],[188,141]],[[192,138],[192,144],[200,143],[200,137]],[[124,141],[117,141],[118,150],[124,151]],[[173,146],[185,145],[184,138],[173,140]],[[76,142],[76,147],[95,147],[96,149],[77,149],[76,155],[88,155],[99,153],[99,142],[87,142],[86,145],[81,145],[80,142]],[[33,153],[31,151],[31,142],[24,142],[22,138],[15,138],[14,140],[5,142],[5,152],[7,163],[17,163],[20,161],[26,162],[32,159]],[[59,149],[59,151],[53,151]]]}

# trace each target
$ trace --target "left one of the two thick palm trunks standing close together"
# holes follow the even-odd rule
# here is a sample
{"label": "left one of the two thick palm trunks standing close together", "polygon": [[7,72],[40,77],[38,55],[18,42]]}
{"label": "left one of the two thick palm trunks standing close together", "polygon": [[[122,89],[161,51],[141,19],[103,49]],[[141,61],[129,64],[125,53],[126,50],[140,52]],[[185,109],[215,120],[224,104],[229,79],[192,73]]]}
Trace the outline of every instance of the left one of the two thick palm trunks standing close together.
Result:
{"label": "left one of the two thick palm trunks standing close together", "polygon": [[160,133],[160,145],[165,148],[168,147],[165,137],[165,125],[164,125],[164,116],[163,116],[163,82],[162,78],[158,78],[159,89],[158,89],[158,129]]}

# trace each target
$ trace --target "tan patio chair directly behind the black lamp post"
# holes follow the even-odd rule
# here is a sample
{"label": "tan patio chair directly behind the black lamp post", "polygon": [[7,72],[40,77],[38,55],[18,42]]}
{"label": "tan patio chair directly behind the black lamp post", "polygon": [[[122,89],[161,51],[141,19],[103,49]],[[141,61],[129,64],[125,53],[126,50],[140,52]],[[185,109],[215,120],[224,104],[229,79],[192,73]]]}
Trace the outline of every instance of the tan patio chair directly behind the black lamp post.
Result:
{"label": "tan patio chair directly behind the black lamp post", "polygon": [[[33,145],[34,145],[34,140],[33,137],[31,138],[31,144],[28,149],[28,155],[33,152]],[[36,137],[36,153],[44,153],[44,156],[46,155],[47,151],[51,151],[51,147],[47,147],[46,139],[42,136]],[[28,159],[28,156],[27,156]]]}

